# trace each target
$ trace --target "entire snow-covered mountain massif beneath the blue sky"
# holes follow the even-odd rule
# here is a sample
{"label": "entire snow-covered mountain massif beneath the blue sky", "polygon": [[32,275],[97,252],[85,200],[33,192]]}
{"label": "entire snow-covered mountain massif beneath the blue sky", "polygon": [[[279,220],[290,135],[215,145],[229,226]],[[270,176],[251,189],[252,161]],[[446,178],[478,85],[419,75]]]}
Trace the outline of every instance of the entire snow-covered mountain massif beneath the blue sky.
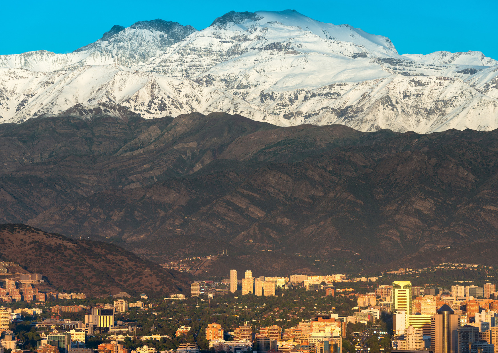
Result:
{"label": "entire snow-covered mountain massif beneath the blue sky", "polygon": [[231,11],[200,31],[141,21],[69,54],[0,55],[1,122],[102,102],[145,118],[223,111],[278,125],[490,130],[498,61],[399,55],[387,37],[295,10]]}

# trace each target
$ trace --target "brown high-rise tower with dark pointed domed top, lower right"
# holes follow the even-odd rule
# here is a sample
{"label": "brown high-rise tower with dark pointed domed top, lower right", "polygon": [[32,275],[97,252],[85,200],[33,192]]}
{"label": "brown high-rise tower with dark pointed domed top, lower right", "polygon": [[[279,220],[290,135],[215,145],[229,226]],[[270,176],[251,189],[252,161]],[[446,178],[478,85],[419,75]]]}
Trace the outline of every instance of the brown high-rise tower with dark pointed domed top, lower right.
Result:
{"label": "brown high-rise tower with dark pointed domed top, lower right", "polygon": [[458,353],[458,327],[460,315],[444,304],[431,316],[431,351],[434,353]]}

